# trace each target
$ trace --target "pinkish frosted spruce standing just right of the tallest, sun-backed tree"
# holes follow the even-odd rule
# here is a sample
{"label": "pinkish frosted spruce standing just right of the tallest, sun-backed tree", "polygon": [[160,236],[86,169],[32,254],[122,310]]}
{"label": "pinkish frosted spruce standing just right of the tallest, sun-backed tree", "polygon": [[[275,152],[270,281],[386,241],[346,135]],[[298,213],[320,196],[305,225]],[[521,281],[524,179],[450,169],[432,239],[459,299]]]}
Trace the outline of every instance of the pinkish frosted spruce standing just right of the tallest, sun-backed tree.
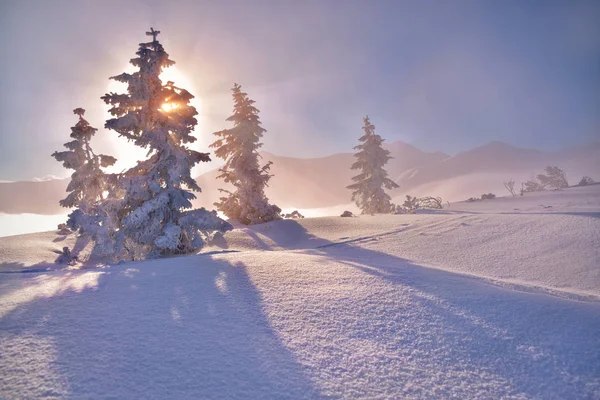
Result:
{"label": "pinkish frosted spruce standing just right of the tallest, sun-backed tree", "polygon": [[254,100],[242,92],[237,83],[233,86],[233,115],[227,121],[233,128],[215,132],[219,137],[210,147],[216,148],[215,155],[225,160],[218,178],[233,185],[234,190],[221,189],[226,195],[215,203],[229,219],[242,224],[259,224],[280,219],[281,209],[269,204],[265,186],[271,175],[271,162],[259,165],[260,139],[266,130],[261,127]]}

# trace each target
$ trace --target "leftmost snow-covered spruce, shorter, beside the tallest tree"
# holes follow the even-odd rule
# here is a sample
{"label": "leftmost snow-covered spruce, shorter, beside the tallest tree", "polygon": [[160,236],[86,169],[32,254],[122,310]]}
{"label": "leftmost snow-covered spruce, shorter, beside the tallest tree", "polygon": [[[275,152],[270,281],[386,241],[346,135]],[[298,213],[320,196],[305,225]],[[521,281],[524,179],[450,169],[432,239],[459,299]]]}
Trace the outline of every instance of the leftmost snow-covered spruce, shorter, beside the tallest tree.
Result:
{"label": "leftmost snow-covered spruce, shorter, beside the tallest tree", "polygon": [[65,168],[73,169],[71,181],[67,186],[67,197],[60,205],[67,208],[75,207],[67,226],[73,230],[86,233],[95,242],[92,255],[104,256],[113,252],[111,216],[107,213],[108,199],[114,194],[115,188],[109,175],[102,168],[113,165],[117,160],[103,154],[95,154],[90,146],[90,140],[97,129],[83,118],[85,110],[73,110],[79,116],[79,121],[71,127],[71,137],[74,139],[65,143],[68,151],[54,152],[52,157],[63,163]]}

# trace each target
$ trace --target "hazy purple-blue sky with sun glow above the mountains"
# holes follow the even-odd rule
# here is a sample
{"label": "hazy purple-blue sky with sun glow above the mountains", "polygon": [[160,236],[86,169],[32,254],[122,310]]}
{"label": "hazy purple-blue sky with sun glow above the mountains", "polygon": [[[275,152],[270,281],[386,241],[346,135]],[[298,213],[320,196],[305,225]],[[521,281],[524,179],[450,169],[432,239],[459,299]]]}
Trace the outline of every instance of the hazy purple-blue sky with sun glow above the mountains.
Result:
{"label": "hazy purple-blue sky with sun glow above the mountains", "polygon": [[132,158],[100,97],[151,26],[196,96],[202,151],[230,127],[234,82],[282,156],[352,151],[365,114],[388,142],[449,154],[600,140],[598,1],[3,0],[0,180],[68,176],[50,154],[76,107],[98,152]]}

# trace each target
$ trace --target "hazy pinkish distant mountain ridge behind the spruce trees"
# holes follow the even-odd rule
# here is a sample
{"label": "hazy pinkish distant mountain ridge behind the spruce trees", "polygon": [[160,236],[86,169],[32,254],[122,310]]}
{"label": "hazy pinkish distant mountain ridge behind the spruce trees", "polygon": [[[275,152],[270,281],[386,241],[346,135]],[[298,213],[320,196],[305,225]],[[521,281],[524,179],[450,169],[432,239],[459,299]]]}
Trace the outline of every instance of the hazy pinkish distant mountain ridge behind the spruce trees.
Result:
{"label": "hazy pinkish distant mountain ridge behind the spruce trees", "polygon": [[[404,142],[386,143],[392,156],[387,165],[390,177],[400,185],[392,196],[436,195],[450,201],[462,200],[494,191],[504,194],[502,182],[509,178],[517,184],[543,172],[546,165],[564,169],[571,184],[583,175],[600,180],[600,142],[554,152],[525,149],[502,142],[491,142],[454,156],[425,152]],[[319,158],[281,157],[261,153],[263,161],[272,161],[267,195],[282,208],[324,208],[350,203],[346,186],[356,171],[352,153],[337,153]],[[212,208],[226,188],[216,180],[218,170],[196,179],[202,188],[197,206]],[[0,213],[65,213],[58,205],[65,197],[67,180],[41,182],[0,182]],[[479,193],[481,192],[481,193]]]}

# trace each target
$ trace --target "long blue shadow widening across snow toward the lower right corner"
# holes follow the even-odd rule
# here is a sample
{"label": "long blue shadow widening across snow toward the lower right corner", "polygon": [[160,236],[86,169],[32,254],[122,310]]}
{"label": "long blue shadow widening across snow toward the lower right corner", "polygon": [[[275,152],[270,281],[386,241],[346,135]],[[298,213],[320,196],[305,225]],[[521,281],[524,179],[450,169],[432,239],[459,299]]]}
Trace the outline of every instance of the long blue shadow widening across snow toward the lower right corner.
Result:
{"label": "long blue shadow widening across snow toward the lower right corner", "polygon": [[[296,225],[296,230],[304,230]],[[402,230],[384,235],[401,235]],[[269,235],[268,230],[264,232]],[[447,379],[448,386],[458,390],[454,394],[460,395],[459,386],[481,383],[491,374],[506,382],[505,391],[499,393],[498,387],[490,385],[486,397],[600,395],[598,303],[507,290],[483,279],[353,246],[356,240],[322,244],[323,239],[311,237],[306,230],[303,235],[303,240],[319,243],[306,253],[381,279],[391,284],[392,293],[409,294],[402,303],[405,308],[397,313],[388,310],[386,318],[394,317],[383,324],[376,305],[368,299],[364,307],[348,302],[349,312],[358,314],[361,321],[359,329],[348,327],[348,340],[360,337],[405,349],[420,368],[430,369],[432,374],[438,371],[442,380]],[[368,243],[367,239],[376,241],[378,236],[361,239]],[[276,236],[270,239],[279,240]],[[327,264],[322,265],[326,268]],[[339,307],[332,319],[341,318],[344,306]]]}

